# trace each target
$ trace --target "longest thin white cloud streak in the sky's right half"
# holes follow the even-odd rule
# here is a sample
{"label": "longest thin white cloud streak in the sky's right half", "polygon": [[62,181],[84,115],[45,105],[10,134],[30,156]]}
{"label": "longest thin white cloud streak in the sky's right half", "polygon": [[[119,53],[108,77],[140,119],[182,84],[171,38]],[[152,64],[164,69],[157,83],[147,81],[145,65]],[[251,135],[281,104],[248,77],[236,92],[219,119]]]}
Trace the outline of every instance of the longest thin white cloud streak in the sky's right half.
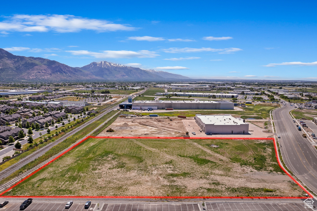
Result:
{"label": "longest thin white cloud streak in the sky's right half", "polygon": [[236,51],[242,51],[240,48],[166,48],[161,49],[165,53],[196,53],[196,52],[218,52],[219,54],[232,54]]}

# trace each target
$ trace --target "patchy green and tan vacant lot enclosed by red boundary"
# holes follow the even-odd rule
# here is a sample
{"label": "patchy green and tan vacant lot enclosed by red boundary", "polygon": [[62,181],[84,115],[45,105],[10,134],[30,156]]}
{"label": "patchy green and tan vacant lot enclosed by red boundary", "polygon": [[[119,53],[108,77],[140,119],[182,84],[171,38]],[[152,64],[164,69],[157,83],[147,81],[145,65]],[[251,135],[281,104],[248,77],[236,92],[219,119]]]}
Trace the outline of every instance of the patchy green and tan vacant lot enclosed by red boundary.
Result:
{"label": "patchy green and tan vacant lot enclosed by red boundary", "polygon": [[[219,145],[218,148],[210,144]],[[301,196],[272,141],[88,139],[6,195]]]}

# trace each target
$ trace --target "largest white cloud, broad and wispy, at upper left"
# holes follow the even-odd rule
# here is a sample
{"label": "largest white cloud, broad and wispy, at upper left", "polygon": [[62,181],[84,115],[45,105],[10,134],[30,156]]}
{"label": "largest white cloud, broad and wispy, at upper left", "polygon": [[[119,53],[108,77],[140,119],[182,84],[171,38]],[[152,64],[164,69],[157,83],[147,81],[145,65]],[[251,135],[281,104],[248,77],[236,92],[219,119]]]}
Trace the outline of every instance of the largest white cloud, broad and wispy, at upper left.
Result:
{"label": "largest white cloud, broad and wispy, at upper left", "polygon": [[81,30],[131,31],[136,28],[106,20],[89,19],[72,15],[14,15],[0,22],[0,30],[20,32],[79,32]]}

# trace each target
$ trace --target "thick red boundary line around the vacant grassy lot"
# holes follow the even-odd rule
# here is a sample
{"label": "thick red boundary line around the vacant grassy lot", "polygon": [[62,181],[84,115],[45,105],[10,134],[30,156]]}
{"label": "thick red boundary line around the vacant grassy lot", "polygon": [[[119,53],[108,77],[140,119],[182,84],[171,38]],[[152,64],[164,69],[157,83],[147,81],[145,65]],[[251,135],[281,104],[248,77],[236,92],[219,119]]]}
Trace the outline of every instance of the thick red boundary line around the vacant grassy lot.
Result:
{"label": "thick red boundary line around the vacant grassy lot", "polygon": [[77,147],[79,144],[83,143],[84,141],[86,141],[88,138],[125,138],[125,139],[246,139],[246,140],[272,140],[274,142],[274,148],[275,148],[275,156],[277,159],[277,162],[280,166],[280,168],[298,185],[301,187],[301,189],[304,190],[304,192],[306,192],[310,197],[314,196],[307,191],[307,189],[305,189],[305,187],[303,185],[301,185],[301,183],[299,183],[297,180],[294,179],[293,176],[291,176],[287,170],[283,167],[279,156],[278,156],[278,149],[277,149],[277,144],[276,144],[276,140],[275,138],[251,138],[251,137],[246,137],[246,138],[242,138],[242,137],[189,137],[189,138],[184,138],[184,137],[110,137],[110,136],[102,136],[102,137],[98,137],[98,136],[88,136],[86,138],[84,138],[83,140],[81,140],[80,142],[78,142],[77,144],[75,144],[74,146],[72,146],[71,148],[69,148],[68,150],[66,150],[65,152],[63,152],[62,154],[60,154],[59,156],[55,157],[53,160],[49,161],[48,163],[46,163],[45,165],[43,165],[41,168],[37,169],[36,171],[32,172],[29,176],[26,176],[25,178],[23,178],[21,181],[17,182],[16,184],[14,184],[13,186],[11,186],[10,188],[6,189],[5,191],[3,191],[0,194],[0,198],[25,198],[25,197],[34,197],[34,198],[140,198],[140,199],[144,199],[144,198],[152,198],[152,199],[306,199],[307,197],[273,197],[273,196],[265,196],[265,197],[254,197],[254,196],[3,196],[3,194],[5,194],[6,192],[10,191],[11,189],[13,189],[14,187],[16,187],[18,184],[20,184],[21,182],[25,181],[26,179],[28,179],[29,177],[33,176],[34,174],[36,174],[38,171],[42,170],[43,168],[45,168],[46,166],[48,166],[50,163],[53,163],[55,160],[57,160],[58,158],[60,158],[61,156],[65,155],[67,152],[69,152],[70,150],[74,149],[75,147]]}

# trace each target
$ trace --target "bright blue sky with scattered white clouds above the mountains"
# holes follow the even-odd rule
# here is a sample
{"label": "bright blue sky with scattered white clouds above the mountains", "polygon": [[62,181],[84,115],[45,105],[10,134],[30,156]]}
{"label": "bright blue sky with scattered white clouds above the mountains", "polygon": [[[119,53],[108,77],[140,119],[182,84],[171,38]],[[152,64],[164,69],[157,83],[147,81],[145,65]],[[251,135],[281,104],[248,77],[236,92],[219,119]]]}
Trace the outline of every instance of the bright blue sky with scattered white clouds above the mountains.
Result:
{"label": "bright blue sky with scattered white clouds above the mountains", "polygon": [[72,67],[317,80],[316,9],[316,1],[6,1],[0,48]]}

